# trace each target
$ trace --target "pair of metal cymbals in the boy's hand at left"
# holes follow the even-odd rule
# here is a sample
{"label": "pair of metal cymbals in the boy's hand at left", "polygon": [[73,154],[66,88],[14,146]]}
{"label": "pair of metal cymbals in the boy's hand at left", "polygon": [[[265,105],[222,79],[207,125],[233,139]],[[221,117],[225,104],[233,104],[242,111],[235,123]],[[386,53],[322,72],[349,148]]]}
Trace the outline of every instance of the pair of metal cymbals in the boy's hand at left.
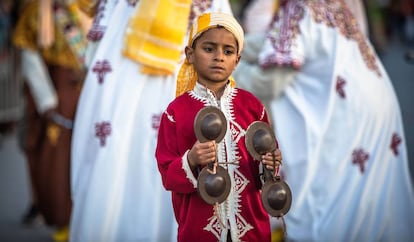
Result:
{"label": "pair of metal cymbals in the boy's hand at left", "polygon": [[[227,132],[223,112],[213,106],[202,108],[194,120],[194,132],[200,142],[219,143]],[[230,193],[231,181],[227,170],[217,160],[204,167],[197,179],[198,193],[208,204],[222,203]]]}

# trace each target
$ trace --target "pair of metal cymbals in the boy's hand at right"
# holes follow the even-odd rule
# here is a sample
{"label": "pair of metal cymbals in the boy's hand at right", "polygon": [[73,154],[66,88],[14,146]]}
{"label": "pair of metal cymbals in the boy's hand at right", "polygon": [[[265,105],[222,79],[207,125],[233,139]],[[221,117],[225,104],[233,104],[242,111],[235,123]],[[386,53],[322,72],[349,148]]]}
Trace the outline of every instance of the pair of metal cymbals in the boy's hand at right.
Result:
{"label": "pair of metal cymbals in the boy's hand at right", "polygon": [[[276,150],[276,138],[270,126],[261,121],[253,122],[246,130],[245,143],[247,151],[260,161],[261,156]],[[262,188],[262,204],[273,217],[283,217],[292,204],[292,192],[280,176],[264,167],[265,183]]]}

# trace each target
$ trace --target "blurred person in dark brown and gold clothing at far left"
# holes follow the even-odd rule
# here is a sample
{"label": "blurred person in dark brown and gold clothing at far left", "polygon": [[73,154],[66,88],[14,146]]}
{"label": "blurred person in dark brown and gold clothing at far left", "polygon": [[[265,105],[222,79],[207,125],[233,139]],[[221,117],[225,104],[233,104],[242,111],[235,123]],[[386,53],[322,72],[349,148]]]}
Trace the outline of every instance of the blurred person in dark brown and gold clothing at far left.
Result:
{"label": "blurred person in dark brown and gold clothing at far left", "polygon": [[23,6],[13,36],[28,87],[24,149],[34,195],[24,222],[40,213],[56,228],[55,241],[67,241],[69,234],[70,141],[85,75],[88,24],[76,5],[65,0],[31,0]]}

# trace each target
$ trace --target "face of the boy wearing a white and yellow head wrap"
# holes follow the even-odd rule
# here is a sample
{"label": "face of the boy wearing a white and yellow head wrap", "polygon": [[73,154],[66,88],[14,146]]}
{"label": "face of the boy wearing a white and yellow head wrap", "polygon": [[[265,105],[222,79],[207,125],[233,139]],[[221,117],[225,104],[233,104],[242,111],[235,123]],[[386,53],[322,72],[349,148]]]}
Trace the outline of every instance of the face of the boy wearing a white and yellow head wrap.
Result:
{"label": "face of the boy wearing a white and yellow head wrap", "polygon": [[236,38],[225,28],[207,30],[193,48],[185,51],[198,74],[198,82],[210,89],[224,86],[240,60]]}

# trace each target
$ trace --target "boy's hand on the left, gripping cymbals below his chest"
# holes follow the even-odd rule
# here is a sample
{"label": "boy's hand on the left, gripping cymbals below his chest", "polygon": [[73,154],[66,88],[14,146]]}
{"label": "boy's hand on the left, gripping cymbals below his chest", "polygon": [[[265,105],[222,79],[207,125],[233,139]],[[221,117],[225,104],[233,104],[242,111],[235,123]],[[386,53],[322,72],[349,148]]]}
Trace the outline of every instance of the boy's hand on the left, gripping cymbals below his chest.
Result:
{"label": "boy's hand on the left, gripping cymbals below his chest", "polygon": [[188,152],[188,163],[192,169],[198,165],[207,165],[216,160],[217,145],[216,142],[208,141],[204,143],[197,142],[193,145],[191,150]]}

